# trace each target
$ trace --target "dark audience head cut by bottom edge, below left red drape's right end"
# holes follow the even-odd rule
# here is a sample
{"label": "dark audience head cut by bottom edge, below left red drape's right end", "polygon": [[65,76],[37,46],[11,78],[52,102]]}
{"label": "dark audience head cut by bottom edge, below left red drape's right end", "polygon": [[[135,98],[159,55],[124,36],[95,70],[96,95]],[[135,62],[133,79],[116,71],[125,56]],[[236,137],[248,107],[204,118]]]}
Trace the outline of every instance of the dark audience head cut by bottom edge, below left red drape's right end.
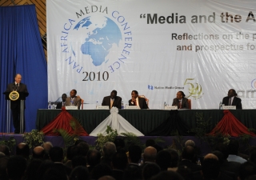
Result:
{"label": "dark audience head cut by bottom edge, below left red drape's right end", "polygon": [[89,180],[90,175],[86,166],[77,166],[70,173],[70,180]]}

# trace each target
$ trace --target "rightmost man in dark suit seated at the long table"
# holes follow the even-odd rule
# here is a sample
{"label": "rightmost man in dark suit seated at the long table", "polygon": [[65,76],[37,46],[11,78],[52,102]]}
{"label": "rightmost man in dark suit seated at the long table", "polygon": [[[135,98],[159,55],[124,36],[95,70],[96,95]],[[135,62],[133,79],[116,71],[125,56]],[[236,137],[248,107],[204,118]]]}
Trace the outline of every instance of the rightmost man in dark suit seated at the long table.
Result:
{"label": "rightmost man in dark suit seated at the long table", "polygon": [[235,90],[229,90],[227,96],[223,98],[222,104],[225,106],[236,106],[236,109],[242,110],[241,98],[237,98],[237,95],[238,94],[235,92]]}

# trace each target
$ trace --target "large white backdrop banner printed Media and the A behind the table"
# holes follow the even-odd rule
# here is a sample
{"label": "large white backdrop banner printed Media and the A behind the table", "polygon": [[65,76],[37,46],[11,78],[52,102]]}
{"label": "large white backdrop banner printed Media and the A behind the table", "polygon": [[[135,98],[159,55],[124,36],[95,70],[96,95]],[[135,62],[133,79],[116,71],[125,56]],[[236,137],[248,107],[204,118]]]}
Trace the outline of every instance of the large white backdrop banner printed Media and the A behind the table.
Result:
{"label": "large white backdrop banner printed Media and the A behind the table", "polygon": [[256,108],[255,1],[47,0],[50,101],[75,89],[94,108],[132,90],[150,109],[179,90],[193,109],[218,109],[228,90]]}

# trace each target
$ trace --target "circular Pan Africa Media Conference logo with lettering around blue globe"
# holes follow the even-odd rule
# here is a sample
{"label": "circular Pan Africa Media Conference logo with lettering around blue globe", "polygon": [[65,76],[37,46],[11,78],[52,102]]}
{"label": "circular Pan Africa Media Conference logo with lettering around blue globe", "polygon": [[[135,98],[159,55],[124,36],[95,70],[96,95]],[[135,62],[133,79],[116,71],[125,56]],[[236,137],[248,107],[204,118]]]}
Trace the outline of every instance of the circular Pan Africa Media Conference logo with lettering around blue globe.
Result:
{"label": "circular Pan Africa Media Conference logo with lettering around blue globe", "polygon": [[69,54],[63,60],[77,73],[89,68],[89,63],[95,67],[106,63],[110,73],[118,70],[132,47],[132,32],[125,16],[117,10],[109,12],[107,6],[86,6],[75,14],[77,20],[70,18],[63,26],[61,50],[64,57]]}

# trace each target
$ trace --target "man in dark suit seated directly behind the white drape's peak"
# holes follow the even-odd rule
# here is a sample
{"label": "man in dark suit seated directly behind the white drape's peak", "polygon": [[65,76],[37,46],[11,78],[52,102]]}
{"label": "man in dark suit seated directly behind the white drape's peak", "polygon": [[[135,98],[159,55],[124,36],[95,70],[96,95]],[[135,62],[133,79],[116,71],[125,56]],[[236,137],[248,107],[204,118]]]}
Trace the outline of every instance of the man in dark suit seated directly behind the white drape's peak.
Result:
{"label": "man in dark suit seated directly behind the white drape's peak", "polygon": [[103,98],[102,106],[109,106],[110,109],[112,107],[117,107],[118,109],[122,109],[122,98],[117,96],[118,92],[116,90],[112,90],[110,96],[106,96]]}

